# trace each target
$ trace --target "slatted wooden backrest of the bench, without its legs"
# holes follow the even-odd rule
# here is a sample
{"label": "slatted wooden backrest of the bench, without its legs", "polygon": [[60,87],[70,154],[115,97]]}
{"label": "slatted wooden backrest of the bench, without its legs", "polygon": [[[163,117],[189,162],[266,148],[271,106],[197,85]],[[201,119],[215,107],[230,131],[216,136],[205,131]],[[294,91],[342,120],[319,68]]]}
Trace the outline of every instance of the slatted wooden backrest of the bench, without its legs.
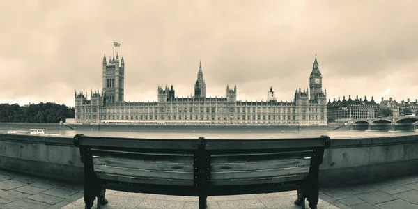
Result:
{"label": "slatted wooden backrest of the bench, without its legs", "polygon": [[325,136],[235,140],[76,135],[74,142],[85,172],[91,167],[100,179],[197,189],[299,181],[311,164],[322,162],[323,150],[330,146]]}

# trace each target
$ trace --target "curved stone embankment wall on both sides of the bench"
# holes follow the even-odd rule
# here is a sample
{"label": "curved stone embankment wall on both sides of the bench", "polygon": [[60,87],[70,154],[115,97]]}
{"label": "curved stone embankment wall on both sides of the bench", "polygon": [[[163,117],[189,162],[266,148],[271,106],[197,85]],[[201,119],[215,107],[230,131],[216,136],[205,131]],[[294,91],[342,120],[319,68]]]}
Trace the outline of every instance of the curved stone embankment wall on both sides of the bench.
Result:
{"label": "curved stone embankment wall on both sides of the bench", "polygon": [[[70,137],[0,134],[0,168],[82,183],[83,164]],[[332,139],[321,185],[370,182],[418,173],[418,135]]]}

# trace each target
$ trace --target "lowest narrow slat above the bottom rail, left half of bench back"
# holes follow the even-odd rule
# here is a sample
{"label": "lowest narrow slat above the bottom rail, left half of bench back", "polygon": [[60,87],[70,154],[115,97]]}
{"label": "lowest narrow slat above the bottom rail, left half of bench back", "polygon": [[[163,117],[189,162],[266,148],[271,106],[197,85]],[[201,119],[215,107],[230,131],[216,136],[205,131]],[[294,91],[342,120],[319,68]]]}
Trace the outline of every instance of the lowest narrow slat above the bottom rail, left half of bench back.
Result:
{"label": "lowest narrow slat above the bottom rail, left half of bench back", "polygon": [[140,178],[132,176],[123,176],[110,173],[97,173],[100,179],[115,180],[124,183],[138,183],[138,184],[150,184],[150,185],[184,185],[193,186],[193,179],[168,179],[168,178]]}

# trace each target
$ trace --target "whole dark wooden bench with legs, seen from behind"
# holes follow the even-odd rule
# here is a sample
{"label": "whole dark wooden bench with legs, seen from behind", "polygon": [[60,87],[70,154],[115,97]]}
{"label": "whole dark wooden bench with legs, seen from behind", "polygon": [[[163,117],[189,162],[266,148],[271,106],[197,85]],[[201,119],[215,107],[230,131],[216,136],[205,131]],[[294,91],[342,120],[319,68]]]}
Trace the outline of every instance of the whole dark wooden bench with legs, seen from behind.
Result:
{"label": "whole dark wooden bench with legs, seen from behind", "polygon": [[318,201],[318,169],[330,137],[305,139],[130,139],[77,134],[84,201],[100,187],[124,192],[207,196],[291,191]]}

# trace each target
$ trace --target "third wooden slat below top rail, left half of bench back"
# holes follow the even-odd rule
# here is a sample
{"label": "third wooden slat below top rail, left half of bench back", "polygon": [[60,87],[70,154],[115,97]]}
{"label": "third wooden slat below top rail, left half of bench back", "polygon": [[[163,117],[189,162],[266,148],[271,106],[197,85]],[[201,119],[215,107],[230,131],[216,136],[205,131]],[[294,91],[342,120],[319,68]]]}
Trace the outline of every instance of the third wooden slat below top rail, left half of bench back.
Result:
{"label": "third wooden slat below top rail, left half of bench back", "polygon": [[167,178],[167,179],[183,179],[193,180],[193,172],[181,172],[181,171],[156,171],[146,169],[128,169],[122,167],[107,167],[102,165],[94,165],[95,172],[102,173],[114,173],[122,176],[133,176],[142,178]]}

